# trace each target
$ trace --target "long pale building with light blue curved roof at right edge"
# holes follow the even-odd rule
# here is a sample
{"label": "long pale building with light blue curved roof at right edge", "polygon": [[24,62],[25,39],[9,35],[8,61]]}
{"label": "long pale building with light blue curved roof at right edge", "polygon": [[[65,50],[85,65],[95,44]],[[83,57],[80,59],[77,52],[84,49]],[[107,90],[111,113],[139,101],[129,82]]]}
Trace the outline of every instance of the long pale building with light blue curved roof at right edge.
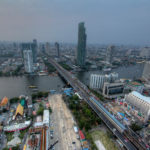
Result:
{"label": "long pale building with light blue curved roof at right edge", "polygon": [[147,119],[150,117],[150,97],[143,96],[133,91],[125,96],[125,100],[145,114]]}

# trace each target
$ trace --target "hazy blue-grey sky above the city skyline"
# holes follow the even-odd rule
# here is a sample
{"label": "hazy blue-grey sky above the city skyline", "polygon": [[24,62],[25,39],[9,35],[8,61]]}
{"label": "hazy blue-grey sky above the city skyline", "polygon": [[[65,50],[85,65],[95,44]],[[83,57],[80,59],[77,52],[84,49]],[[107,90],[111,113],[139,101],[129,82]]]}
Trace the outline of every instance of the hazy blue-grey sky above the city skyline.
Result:
{"label": "hazy blue-grey sky above the city skyline", "polygon": [[0,0],[0,40],[150,45],[150,0]]}

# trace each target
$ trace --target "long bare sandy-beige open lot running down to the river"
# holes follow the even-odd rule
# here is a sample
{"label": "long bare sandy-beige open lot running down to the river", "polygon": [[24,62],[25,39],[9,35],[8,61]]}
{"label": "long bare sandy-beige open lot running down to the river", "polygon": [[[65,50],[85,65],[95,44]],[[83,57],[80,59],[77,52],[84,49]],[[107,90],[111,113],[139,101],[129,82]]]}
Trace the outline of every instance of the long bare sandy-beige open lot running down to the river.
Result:
{"label": "long bare sandy-beige open lot running down to the river", "polygon": [[50,139],[50,144],[59,140],[55,145],[55,150],[80,150],[80,141],[77,139],[77,134],[73,128],[75,122],[62,99],[62,95],[50,96],[49,103],[52,108],[50,129],[54,131],[53,139]]}

